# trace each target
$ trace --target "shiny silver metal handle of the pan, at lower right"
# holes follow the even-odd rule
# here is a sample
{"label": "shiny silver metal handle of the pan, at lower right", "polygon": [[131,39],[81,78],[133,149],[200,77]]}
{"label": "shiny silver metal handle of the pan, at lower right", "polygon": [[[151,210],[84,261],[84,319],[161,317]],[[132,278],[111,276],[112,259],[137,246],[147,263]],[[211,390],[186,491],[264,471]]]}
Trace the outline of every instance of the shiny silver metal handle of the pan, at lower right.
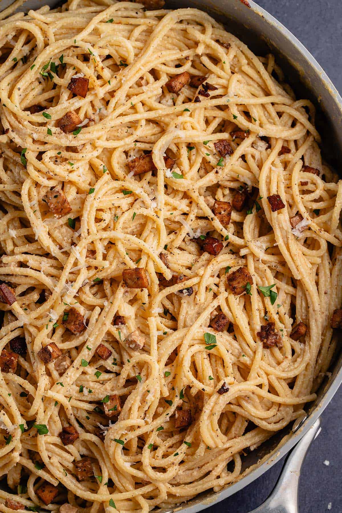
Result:
{"label": "shiny silver metal handle of the pan, at lower right", "polygon": [[320,432],[321,419],[294,446],[285,460],[283,470],[266,501],[250,513],[298,513],[298,484],[301,467],[310,445]]}

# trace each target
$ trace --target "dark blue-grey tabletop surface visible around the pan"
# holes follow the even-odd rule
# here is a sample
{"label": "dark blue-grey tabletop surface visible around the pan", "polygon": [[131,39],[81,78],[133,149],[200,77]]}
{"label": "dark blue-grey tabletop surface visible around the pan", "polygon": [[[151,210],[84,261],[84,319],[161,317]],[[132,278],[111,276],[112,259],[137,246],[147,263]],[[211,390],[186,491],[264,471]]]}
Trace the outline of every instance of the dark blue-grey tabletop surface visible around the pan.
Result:
{"label": "dark blue-grey tabletop surface visible around the pan", "polygon": [[[316,58],[342,93],[342,0],[256,0],[283,23]],[[299,512],[342,513],[342,389],[323,413],[320,435],[304,463],[299,487]],[[323,462],[328,460],[329,466]],[[206,509],[206,513],[247,513],[270,494],[283,465],[274,465],[259,479]]]}

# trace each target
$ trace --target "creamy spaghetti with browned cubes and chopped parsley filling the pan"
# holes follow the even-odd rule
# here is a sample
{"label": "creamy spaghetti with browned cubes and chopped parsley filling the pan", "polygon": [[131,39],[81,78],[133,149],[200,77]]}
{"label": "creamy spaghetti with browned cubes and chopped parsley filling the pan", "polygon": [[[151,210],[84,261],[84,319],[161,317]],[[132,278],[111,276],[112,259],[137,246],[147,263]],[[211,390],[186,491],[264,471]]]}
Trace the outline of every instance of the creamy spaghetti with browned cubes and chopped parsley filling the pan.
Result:
{"label": "creamy spaghetti with browned cubes and chopped parsley filling the pan", "polygon": [[158,7],[0,22],[1,511],[220,490],[335,350],[342,182],[313,105]]}

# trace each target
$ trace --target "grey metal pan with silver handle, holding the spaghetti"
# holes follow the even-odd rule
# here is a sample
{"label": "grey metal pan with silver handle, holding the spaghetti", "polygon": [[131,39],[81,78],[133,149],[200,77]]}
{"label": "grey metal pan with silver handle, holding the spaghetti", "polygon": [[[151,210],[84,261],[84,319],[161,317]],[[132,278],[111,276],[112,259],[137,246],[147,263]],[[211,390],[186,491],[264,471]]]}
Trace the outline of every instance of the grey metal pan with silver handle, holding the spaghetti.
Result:
{"label": "grey metal pan with silver handle, holding the spaghetti", "polygon": [[[13,0],[2,0],[0,8],[8,7]],[[48,4],[52,8],[59,0],[29,0],[21,10],[37,9]],[[257,55],[270,51],[285,71],[297,97],[309,97],[317,107],[317,128],[323,135],[323,154],[331,163],[342,157],[342,99],[324,70],[297,38],[273,16],[250,0],[250,8],[242,0],[167,0],[167,8],[196,7],[210,13],[225,24],[227,30],[250,46]],[[325,136],[327,139],[325,140]],[[276,433],[270,440],[251,452],[243,462],[242,476],[236,483],[214,493],[206,492],[174,509],[159,513],[186,511],[197,513],[208,506],[235,494],[266,472],[293,447],[283,472],[269,499],[251,513],[297,513],[297,487],[301,464],[320,428],[319,416],[342,382],[342,353],[336,354],[331,368],[314,403],[307,405],[307,415],[292,426]]]}

